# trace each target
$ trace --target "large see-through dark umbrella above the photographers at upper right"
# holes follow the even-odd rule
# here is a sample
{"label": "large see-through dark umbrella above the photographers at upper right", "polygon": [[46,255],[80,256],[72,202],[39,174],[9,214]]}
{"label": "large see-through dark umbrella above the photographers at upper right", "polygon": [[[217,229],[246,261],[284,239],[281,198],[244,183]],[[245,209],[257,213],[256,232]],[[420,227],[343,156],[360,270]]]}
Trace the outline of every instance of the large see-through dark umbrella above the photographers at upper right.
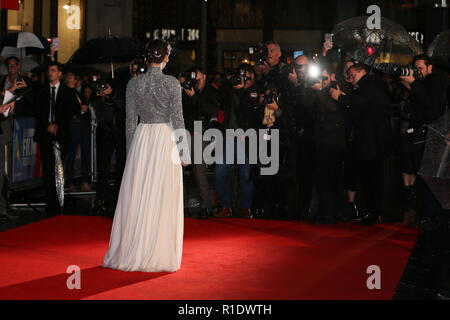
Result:
{"label": "large see-through dark umbrella above the photographers at upper right", "polygon": [[386,73],[422,54],[419,43],[401,25],[381,18],[381,29],[369,29],[367,16],[338,23],[333,43],[353,59]]}

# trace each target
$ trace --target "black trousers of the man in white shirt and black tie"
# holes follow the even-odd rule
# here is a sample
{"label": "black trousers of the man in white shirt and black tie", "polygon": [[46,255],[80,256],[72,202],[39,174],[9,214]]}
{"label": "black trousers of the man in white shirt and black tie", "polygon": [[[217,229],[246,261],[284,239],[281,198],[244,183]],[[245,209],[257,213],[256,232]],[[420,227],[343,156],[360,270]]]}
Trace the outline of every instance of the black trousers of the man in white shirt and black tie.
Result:
{"label": "black trousers of the man in white shirt and black tie", "polygon": [[[55,154],[53,151],[54,139],[48,133],[44,135],[39,143],[42,159],[42,174],[46,188],[46,213],[47,216],[55,216],[62,213],[56,193],[55,181]],[[64,163],[66,154],[66,144],[60,142],[61,158]]]}

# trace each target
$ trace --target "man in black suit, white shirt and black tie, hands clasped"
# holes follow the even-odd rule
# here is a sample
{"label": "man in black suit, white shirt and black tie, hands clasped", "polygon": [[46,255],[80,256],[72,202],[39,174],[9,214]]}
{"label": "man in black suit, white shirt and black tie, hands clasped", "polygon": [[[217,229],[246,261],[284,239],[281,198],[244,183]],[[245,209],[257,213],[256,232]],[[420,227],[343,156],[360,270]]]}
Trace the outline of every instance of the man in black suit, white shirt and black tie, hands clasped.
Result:
{"label": "man in black suit, white shirt and black tie, hands clasped", "polygon": [[55,158],[53,143],[60,143],[61,156],[64,162],[65,151],[70,142],[69,121],[73,114],[80,109],[75,90],[68,88],[61,81],[62,65],[50,62],[47,66],[48,84],[43,86],[36,99],[36,132],[34,139],[39,143],[42,156],[42,169],[47,188],[46,212],[47,216],[61,213],[56,185]]}

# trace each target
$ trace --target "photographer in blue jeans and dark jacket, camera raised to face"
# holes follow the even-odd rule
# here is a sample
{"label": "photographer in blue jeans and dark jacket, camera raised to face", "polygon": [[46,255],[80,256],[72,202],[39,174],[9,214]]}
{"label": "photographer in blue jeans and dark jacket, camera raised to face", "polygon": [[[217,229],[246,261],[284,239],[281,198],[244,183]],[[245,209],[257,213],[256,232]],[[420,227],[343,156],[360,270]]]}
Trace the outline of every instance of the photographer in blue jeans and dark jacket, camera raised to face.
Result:
{"label": "photographer in blue jeans and dark jacket, camera raised to face", "polygon": [[[249,65],[242,65],[240,69],[244,70],[244,75],[239,74],[235,75],[237,77],[232,77],[230,80],[232,82],[232,88],[224,95],[226,97],[224,101],[224,132],[226,129],[242,129],[246,131],[248,128],[254,126],[255,121],[257,122],[257,119],[252,116],[252,110],[254,110],[253,104],[255,98],[257,99],[258,97],[255,87],[255,74]],[[237,81],[234,82],[237,78],[240,80],[239,84],[237,84]],[[215,217],[223,218],[232,216],[227,177],[233,163],[227,163],[226,150],[234,148],[234,163],[236,163],[236,159],[240,159],[243,156],[245,157],[244,164],[237,164],[240,177],[239,191],[241,216],[243,218],[252,218],[250,208],[253,202],[253,182],[251,181],[251,166],[249,164],[247,144],[245,144],[244,140],[245,137],[233,137],[232,145],[228,145],[227,138],[228,137],[226,136],[224,137],[224,152],[222,154],[223,164],[216,163],[215,167],[216,189],[219,195],[219,203],[222,206]],[[242,149],[240,148],[243,146],[242,144],[245,144],[244,155],[238,154]],[[216,150],[216,152],[218,151]]]}

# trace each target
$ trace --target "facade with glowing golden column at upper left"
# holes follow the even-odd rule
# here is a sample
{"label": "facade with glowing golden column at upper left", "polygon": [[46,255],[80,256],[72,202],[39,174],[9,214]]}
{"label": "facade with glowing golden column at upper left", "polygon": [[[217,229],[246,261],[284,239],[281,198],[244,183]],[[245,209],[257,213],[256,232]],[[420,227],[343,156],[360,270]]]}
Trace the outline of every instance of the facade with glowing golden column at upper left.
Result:
{"label": "facade with glowing golden column at upper left", "polygon": [[[0,33],[33,32],[58,39],[58,60],[65,63],[86,40],[111,31],[133,35],[132,0],[16,0],[1,10]],[[9,1],[11,2],[11,1]]]}

